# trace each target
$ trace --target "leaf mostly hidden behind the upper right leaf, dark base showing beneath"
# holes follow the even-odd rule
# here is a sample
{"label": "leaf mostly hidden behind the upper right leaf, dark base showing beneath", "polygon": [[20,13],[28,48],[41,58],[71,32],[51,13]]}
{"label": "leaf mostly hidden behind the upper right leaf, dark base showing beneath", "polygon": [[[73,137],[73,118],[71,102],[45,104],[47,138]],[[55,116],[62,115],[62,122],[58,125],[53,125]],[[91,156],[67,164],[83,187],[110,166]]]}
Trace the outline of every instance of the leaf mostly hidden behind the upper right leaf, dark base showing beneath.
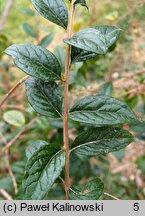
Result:
{"label": "leaf mostly hidden behind the upper right leaf, dark base showing beneath", "polygon": [[[100,32],[100,34],[105,40],[107,50],[117,41],[117,39],[119,38],[120,32],[121,32],[121,29],[115,26],[105,26],[105,25],[96,26],[96,27],[93,27],[93,29]],[[103,54],[103,53],[92,52],[92,50],[88,51],[82,47],[78,47],[78,46],[76,47],[73,45],[72,52],[71,52],[71,60],[72,62],[86,61],[88,59],[94,58],[97,54]]]}

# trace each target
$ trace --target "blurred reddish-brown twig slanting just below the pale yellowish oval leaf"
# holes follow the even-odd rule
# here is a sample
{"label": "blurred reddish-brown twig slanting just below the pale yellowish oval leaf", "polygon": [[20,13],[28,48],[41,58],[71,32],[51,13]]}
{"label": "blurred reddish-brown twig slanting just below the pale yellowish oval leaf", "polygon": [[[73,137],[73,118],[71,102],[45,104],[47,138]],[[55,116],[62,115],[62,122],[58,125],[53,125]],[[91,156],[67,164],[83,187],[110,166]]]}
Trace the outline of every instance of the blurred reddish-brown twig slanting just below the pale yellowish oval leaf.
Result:
{"label": "blurred reddish-brown twig slanting just below the pale yellowish oval leaf", "polygon": [[25,125],[25,127],[13,138],[11,139],[6,146],[0,151],[0,157],[2,156],[2,154],[7,151],[7,149],[17,141],[17,139],[20,138],[20,136],[25,133],[28,128],[37,120],[38,116],[36,116],[34,119],[32,119],[27,125]]}

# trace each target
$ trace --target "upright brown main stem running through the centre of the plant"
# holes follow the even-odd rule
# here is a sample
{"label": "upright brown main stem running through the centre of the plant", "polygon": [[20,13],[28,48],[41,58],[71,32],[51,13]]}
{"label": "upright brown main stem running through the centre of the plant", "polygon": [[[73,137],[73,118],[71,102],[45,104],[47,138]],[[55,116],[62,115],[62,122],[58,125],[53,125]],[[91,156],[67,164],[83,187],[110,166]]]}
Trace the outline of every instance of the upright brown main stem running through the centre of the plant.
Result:
{"label": "upright brown main stem running through the centre of the plant", "polygon": [[[70,17],[69,24],[67,28],[67,37],[71,38],[73,29],[73,15],[74,15],[74,1],[71,1],[70,6]],[[66,200],[69,200],[69,188],[70,188],[70,177],[69,177],[69,161],[70,161],[70,151],[69,151],[69,136],[68,136],[68,109],[69,109],[69,99],[68,99],[68,83],[69,83],[69,73],[70,73],[70,52],[71,46],[66,47],[66,63],[65,63],[65,82],[64,82],[64,120],[63,120],[63,140],[64,149],[66,151],[66,162],[65,162],[65,193]]]}

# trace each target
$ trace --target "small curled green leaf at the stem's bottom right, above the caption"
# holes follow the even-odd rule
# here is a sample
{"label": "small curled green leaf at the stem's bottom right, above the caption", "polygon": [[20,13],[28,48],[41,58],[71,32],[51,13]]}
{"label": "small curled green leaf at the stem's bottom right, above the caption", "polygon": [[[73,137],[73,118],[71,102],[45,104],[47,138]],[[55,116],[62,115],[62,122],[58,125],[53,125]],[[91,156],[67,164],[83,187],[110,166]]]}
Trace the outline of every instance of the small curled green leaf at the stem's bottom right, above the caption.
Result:
{"label": "small curled green leaf at the stem's bottom right, above the caption", "polygon": [[72,200],[97,200],[102,195],[103,190],[103,182],[96,178],[89,181],[83,188],[73,186],[69,190],[69,195]]}

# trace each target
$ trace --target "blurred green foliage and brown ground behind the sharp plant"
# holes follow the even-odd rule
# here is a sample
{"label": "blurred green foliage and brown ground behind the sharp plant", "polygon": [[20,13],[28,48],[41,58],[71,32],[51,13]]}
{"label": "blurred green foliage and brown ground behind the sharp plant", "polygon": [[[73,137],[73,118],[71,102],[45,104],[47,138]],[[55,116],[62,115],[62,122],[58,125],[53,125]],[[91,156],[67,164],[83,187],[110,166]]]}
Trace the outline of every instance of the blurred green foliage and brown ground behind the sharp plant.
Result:
{"label": "blurred green foliage and brown ground behind the sharp plant", "polygon": [[[88,0],[89,11],[78,6],[74,31],[95,25],[115,25],[123,29],[115,47],[105,56],[76,63],[70,75],[71,103],[78,97],[108,92],[125,100],[142,120],[138,125],[126,126],[136,141],[125,150],[101,157],[85,158],[72,155],[72,182],[84,184],[93,177],[105,182],[105,192],[119,199],[145,198],[145,3],[143,0]],[[68,4],[68,1],[66,0]],[[0,17],[7,1],[0,0]],[[3,51],[13,43],[34,43],[55,52],[64,65],[65,32],[40,17],[30,0],[14,0],[8,17],[0,31],[0,101],[24,73],[19,71]],[[105,85],[104,85],[105,83]],[[0,109],[0,149],[23,130],[36,116],[25,96],[24,85],[19,87]],[[77,129],[74,129],[74,128]],[[81,125],[70,123],[70,142]],[[22,199],[22,179],[26,164],[26,147],[36,140],[62,145],[62,122],[44,116],[37,120],[0,158],[0,189],[13,199]],[[9,161],[9,163],[8,163]],[[6,163],[7,162],[7,163]],[[18,186],[12,182],[9,166]],[[62,176],[63,177],[63,176]],[[46,199],[63,199],[62,184],[56,182]],[[107,195],[102,199],[111,199]],[[3,199],[0,196],[0,199]]]}

